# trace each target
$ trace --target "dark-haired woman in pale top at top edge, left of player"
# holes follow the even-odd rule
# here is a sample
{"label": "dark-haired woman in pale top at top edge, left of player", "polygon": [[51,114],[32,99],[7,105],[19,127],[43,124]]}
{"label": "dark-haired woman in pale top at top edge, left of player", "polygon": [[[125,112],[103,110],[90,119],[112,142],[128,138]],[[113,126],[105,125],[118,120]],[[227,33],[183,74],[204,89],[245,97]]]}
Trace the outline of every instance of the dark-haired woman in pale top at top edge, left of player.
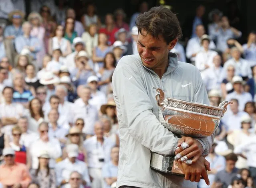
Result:
{"label": "dark-haired woman in pale top at top edge, left of player", "polygon": [[99,16],[97,16],[97,14],[96,14],[96,7],[94,6],[94,4],[87,5],[87,11],[82,16],[81,22],[82,22],[85,30],[87,30],[87,28],[91,24],[97,24],[98,28],[101,27],[101,20],[99,19]]}

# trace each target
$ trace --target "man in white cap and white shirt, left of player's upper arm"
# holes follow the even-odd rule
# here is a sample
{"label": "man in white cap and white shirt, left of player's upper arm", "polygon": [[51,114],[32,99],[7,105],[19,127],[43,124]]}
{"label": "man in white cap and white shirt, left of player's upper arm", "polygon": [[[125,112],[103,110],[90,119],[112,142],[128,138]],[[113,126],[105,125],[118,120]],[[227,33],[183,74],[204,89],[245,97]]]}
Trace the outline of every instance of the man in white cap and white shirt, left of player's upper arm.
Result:
{"label": "man in white cap and white shirt, left of player's upper arm", "polygon": [[101,105],[104,105],[107,103],[107,97],[105,93],[97,89],[99,87],[98,82],[99,82],[99,78],[95,75],[92,75],[87,79],[87,84],[91,88],[91,97],[92,97],[89,100],[89,104],[96,106],[97,110],[99,111],[101,109]]}

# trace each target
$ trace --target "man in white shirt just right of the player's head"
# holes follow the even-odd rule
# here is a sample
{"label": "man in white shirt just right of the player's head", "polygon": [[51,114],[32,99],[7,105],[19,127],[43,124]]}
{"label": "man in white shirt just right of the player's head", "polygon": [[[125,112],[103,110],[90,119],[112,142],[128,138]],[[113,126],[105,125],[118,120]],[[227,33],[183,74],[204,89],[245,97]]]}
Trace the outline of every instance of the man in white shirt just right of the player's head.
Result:
{"label": "man in white shirt just right of the player's head", "polygon": [[[202,46],[200,44],[200,38],[205,34],[204,26],[198,25],[196,26],[196,37],[189,39],[186,47],[186,56],[190,59],[191,62],[196,60],[196,55],[201,51]],[[209,49],[215,49],[216,46],[214,42],[211,40],[209,44]]]}

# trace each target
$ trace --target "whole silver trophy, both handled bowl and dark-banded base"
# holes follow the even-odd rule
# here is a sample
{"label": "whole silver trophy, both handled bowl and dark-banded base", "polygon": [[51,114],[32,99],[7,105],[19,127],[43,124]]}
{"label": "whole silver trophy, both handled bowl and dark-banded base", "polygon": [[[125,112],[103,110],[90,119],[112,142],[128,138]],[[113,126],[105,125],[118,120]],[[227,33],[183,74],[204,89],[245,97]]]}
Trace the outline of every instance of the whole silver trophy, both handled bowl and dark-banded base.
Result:
{"label": "whole silver trophy, both handled bowl and dark-banded base", "polygon": [[[194,138],[212,135],[220,124],[220,120],[232,103],[223,101],[219,107],[165,97],[163,91],[156,89],[157,105],[160,107],[159,121],[175,135]],[[152,169],[168,174],[184,175],[182,167],[174,161],[174,156],[162,156],[151,153]]]}

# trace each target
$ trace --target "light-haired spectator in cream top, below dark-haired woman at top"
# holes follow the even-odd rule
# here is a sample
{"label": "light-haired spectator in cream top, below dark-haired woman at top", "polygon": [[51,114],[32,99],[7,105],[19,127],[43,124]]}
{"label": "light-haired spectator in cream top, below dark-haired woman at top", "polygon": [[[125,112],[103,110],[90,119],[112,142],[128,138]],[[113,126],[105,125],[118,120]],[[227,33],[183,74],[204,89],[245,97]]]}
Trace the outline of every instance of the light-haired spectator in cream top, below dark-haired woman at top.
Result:
{"label": "light-haired spectator in cream top, below dark-haired woman at top", "polygon": [[99,34],[97,33],[97,24],[90,24],[88,32],[84,32],[82,35],[83,42],[86,46],[86,51],[90,58],[93,57],[93,49],[99,44]]}

